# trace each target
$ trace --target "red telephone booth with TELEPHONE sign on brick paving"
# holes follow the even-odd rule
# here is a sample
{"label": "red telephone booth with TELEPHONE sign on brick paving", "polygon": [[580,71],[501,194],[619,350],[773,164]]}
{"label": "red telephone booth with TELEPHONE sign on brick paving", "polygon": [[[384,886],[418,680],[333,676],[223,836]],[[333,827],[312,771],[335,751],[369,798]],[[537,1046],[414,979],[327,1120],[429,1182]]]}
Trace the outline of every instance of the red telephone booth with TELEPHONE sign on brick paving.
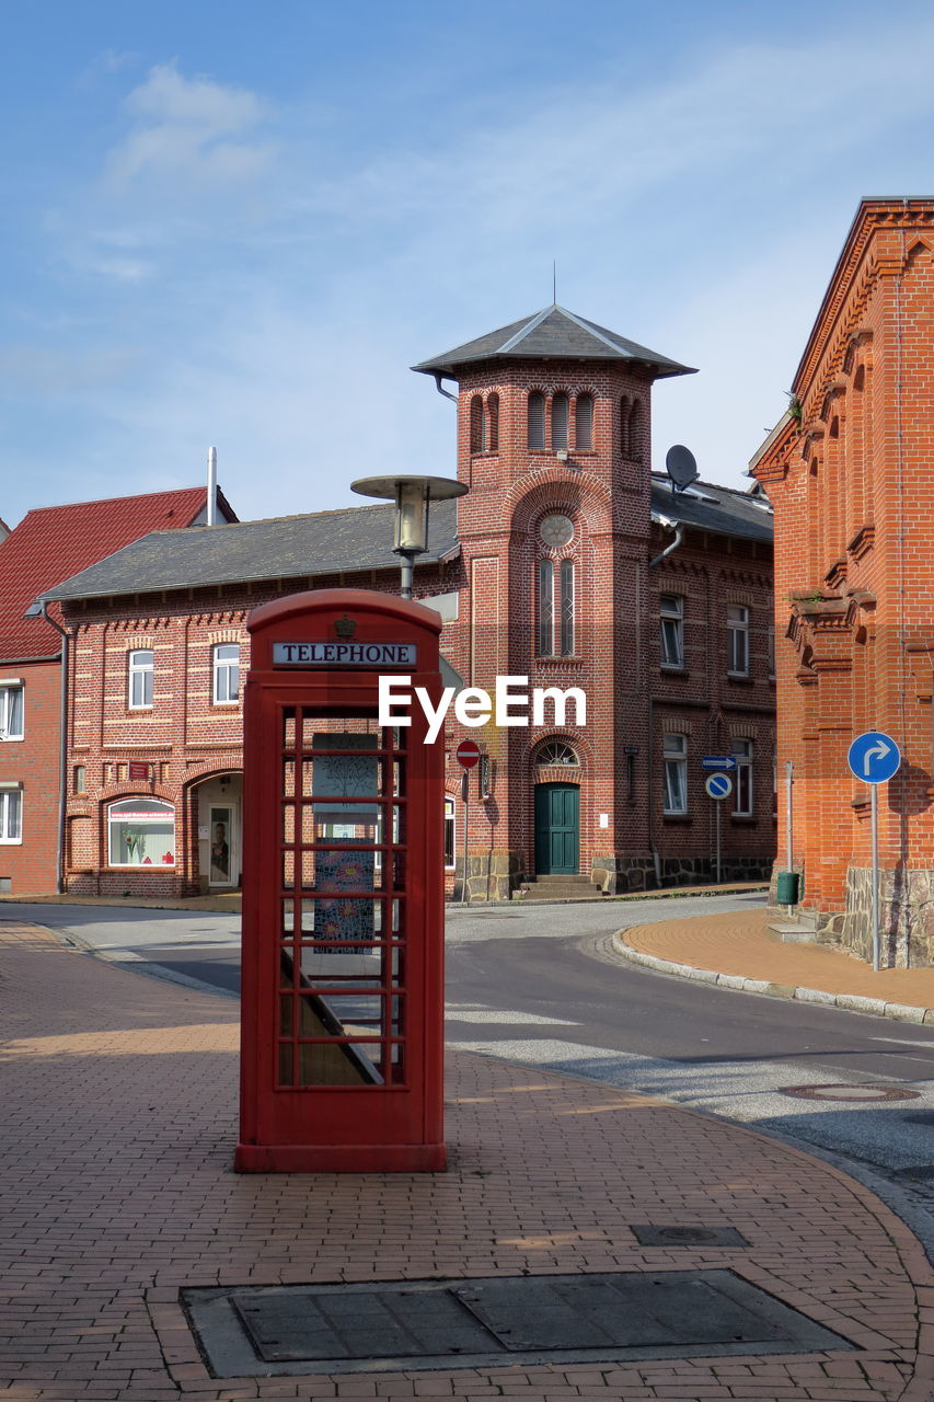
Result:
{"label": "red telephone booth with TELEPHONE sign on brick paving", "polygon": [[241,1172],[440,1169],[440,620],[363,589],[257,608],[245,684]]}

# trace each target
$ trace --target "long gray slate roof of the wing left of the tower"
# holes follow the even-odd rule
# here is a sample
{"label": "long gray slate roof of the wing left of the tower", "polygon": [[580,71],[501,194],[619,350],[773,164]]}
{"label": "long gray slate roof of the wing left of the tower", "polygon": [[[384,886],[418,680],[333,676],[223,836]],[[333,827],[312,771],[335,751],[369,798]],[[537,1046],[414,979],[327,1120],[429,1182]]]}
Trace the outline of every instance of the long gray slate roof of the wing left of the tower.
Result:
{"label": "long gray slate roof of the wing left of the tower", "polygon": [[[393,554],[394,512],[394,503],[387,502],[386,506],[348,506],[338,512],[279,516],[233,526],[154,531],[56,585],[42,597],[98,599],[245,580],[299,579],[339,571],[397,571],[400,557]],[[432,502],[429,548],[418,557],[419,564],[431,564],[460,548],[456,524],[456,501]]]}

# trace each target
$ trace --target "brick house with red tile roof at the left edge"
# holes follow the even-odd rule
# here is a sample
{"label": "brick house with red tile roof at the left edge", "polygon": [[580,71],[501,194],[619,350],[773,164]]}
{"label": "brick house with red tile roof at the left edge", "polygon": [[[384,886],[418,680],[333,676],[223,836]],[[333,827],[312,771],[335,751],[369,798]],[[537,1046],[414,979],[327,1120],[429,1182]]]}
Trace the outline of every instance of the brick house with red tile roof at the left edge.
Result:
{"label": "brick house with red tile roof at the left edge", "polygon": [[[62,634],[32,601],[151,530],[199,524],[205,499],[206,488],[192,486],[48,506],[1,540],[0,892],[53,892],[59,880]],[[234,519],[222,496],[219,509]]]}

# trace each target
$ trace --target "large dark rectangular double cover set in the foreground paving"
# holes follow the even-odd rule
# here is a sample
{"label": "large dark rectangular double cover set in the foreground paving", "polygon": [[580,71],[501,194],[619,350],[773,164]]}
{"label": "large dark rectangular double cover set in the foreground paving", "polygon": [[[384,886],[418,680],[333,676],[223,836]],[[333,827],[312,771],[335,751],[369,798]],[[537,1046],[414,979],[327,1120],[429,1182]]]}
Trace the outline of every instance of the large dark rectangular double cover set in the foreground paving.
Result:
{"label": "large dark rectangular double cover set in the foreground paving", "polygon": [[731,1270],[191,1288],[181,1298],[222,1378],[853,1347]]}

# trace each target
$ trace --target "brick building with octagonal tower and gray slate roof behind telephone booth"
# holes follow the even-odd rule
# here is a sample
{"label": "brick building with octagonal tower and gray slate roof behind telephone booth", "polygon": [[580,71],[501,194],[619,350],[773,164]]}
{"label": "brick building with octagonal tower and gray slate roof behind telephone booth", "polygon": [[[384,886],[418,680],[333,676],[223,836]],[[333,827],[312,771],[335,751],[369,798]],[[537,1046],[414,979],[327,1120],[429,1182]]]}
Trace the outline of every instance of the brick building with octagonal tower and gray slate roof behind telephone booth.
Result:
{"label": "brick building with octagonal tower and gray slate roof behind telephone booth", "polygon": [[[707,879],[703,754],[738,761],[724,875],[763,875],[771,513],[752,494],[675,495],[652,477],[652,383],[686,367],[553,306],[415,369],[439,390],[459,381],[470,492],[432,506],[415,566],[415,597],[446,620],[446,658],[468,686],[515,676],[588,698],[586,723],[569,705],[527,728],[449,725],[449,886],[463,872],[450,751],[464,733],[485,750],[470,785],[471,899],[536,878],[610,892]],[[87,777],[69,796],[69,889],[237,883],[247,613],[303,589],[395,592],[391,517],[367,506],[163,533],[53,592],[74,639],[70,764]]]}

